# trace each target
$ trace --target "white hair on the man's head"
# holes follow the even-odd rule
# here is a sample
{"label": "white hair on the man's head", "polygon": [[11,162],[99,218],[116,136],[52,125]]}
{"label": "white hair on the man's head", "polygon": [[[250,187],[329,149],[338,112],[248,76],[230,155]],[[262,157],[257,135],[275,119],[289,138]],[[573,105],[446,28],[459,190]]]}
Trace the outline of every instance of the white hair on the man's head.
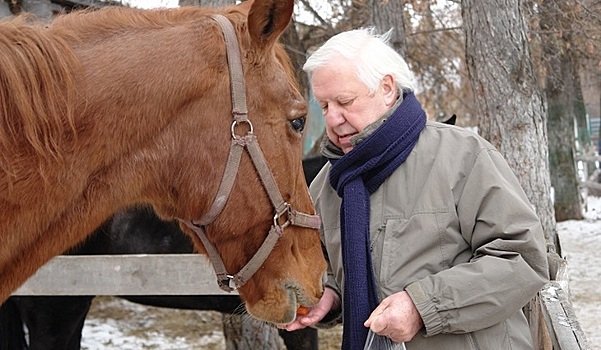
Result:
{"label": "white hair on the man's head", "polygon": [[308,59],[303,70],[311,74],[340,56],[349,59],[357,68],[357,76],[371,92],[376,91],[382,78],[394,77],[399,91],[413,91],[414,78],[407,62],[388,44],[392,29],[376,34],[375,28],[361,28],[331,37]]}

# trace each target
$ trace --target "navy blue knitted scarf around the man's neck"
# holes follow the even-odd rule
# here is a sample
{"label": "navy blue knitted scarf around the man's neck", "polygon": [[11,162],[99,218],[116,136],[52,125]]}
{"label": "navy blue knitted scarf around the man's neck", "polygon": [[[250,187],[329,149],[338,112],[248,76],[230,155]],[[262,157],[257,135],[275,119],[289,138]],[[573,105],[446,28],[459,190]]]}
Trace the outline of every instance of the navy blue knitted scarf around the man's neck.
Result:
{"label": "navy blue knitted scarf around the man's neck", "polygon": [[342,198],[340,231],[344,267],[342,349],[363,349],[363,323],[378,306],[369,239],[369,196],[407,159],[426,125],[426,114],[407,93],[396,111],[340,159],[330,159],[330,184]]}

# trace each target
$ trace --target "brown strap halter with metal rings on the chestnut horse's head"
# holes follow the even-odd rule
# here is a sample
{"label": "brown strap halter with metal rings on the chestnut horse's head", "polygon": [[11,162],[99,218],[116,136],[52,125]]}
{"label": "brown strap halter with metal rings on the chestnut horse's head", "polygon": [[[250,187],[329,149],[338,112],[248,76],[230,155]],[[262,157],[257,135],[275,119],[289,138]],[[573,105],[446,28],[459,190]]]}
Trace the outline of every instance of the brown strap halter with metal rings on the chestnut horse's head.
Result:
{"label": "brown strap halter with metal rings on the chestnut horse's head", "polygon": [[[263,152],[257,143],[257,137],[253,133],[252,123],[248,119],[246,86],[244,74],[242,72],[240,49],[238,47],[238,40],[236,38],[234,27],[231,22],[222,15],[214,15],[212,16],[212,19],[219,23],[223,36],[225,37],[227,61],[230,70],[232,115],[234,118],[231,127],[232,142],[223,178],[213,201],[213,205],[202,219],[198,221],[181,221],[194,230],[196,235],[198,235],[202,241],[209,259],[213,264],[213,268],[215,269],[219,287],[226,292],[232,292],[246,283],[253,274],[257,272],[261,265],[263,265],[278,239],[282,236],[285,227],[288,225],[296,225],[318,229],[320,226],[320,219],[317,215],[305,214],[294,210],[291,205],[282,198],[275,178],[273,177],[271,170],[269,170]],[[248,124],[250,129],[245,136],[238,136],[236,135],[236,126],[242,123]],[[271,200],[271,204],[275,208],[275,214],[273,216],[273,225],[261,247],[259,247],[255,255],[238,273],[232,275],[227,272],[223,260],[215,246],[209,242],[205,233],[205,226],[212,223],[225,207],[234,185],[234,180],[240,165],[242,150],[244,148],[247,149],[251,160],[259,173],[263,187]],[[280,218],[285,218],[286,221],[280,223]]]}

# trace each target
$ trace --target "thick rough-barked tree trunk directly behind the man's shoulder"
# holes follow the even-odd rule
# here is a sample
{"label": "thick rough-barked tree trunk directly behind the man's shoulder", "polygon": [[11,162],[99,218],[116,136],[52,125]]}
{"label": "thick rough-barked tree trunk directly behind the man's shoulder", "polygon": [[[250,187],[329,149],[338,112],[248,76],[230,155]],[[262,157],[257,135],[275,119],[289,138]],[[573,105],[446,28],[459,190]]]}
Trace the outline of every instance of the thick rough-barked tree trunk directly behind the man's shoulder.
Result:
{"label": "thick rough-barked tree trunk directly behind the man's shoulder", "polygon": [[[468,73],[479,132],[503,154],[557,250],[543,96],[537,87],[520,0],[463,0]],[[552,248],[552,247],[550,247]]]}

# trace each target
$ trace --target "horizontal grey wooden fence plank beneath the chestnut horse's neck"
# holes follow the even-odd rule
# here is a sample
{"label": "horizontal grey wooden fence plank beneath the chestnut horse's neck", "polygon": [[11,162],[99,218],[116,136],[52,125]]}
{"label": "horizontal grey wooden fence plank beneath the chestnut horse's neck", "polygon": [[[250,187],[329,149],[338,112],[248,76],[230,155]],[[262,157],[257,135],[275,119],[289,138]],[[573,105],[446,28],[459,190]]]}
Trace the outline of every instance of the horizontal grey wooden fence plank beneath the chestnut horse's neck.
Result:
{"label": "horizontal grey wooden fence plank beneath the chestnut horse's neck", "polygon": [[[65,255],[42,266],[14,295],[228,294],[199,254]],[[236,293],[234,293],[236,294]]]}

